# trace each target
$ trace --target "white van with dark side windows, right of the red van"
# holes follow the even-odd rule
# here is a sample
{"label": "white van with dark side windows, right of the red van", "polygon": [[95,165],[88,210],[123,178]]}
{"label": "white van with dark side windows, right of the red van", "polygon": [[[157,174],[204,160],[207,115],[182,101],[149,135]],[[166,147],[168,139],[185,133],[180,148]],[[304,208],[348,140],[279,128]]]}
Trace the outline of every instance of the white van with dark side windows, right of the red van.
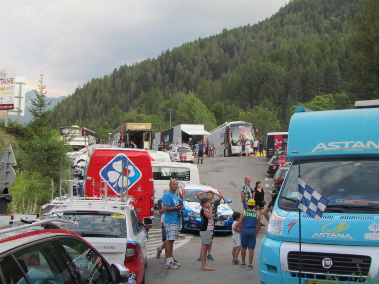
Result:
{"label": "white van with dark side windows, right of the red van", "polygon": [[197,165],[180,162],[151,162],[153,169],[155,200],[163,197],[163,190],[168,188],[170,179],[175,178],[181,183],[200,184],[199,170]]}

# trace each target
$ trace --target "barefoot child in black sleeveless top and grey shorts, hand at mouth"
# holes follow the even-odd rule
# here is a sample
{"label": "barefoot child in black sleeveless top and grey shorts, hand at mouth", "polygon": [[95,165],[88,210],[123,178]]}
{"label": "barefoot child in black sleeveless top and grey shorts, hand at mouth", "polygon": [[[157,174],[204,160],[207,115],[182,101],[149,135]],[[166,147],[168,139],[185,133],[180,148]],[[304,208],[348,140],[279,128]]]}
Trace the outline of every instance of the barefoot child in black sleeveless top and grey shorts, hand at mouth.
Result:
{"label": "barefoot child in black sleeveless top and grey shorts, hand at mouth", "polygon": [[201,211],[200,216],[202,217],[203,224],[200,229],[201,237],[201,269],[202,270],[215,270],[213,266],[207,265],[207,251],[209,244],[212,242],[213,228],[215,227],[215,222],[212,217],[212,206],[211,199],[203,197],[200,200]]}

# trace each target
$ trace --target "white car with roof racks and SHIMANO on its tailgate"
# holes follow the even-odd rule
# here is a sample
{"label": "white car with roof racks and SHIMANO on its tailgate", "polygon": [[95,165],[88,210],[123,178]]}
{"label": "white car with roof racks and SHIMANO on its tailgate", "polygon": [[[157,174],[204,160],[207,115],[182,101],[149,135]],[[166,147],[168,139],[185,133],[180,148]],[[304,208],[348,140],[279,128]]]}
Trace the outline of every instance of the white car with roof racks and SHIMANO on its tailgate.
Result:
{"label": "white car with roof racks and SHIMANO on its tailgate", "polygon": [[153,220],[145,217],[141,223],[130,201],[131,198],[124,202],[91,198],[89,203],[85,199],[56,198],[45,217],[77,222],[78,225],[67,225],[68,229],[96,247],[107,261],[127,265],[129,278],[141,284],[145,282],[147,260],[148,236],[144,226],[152,225]]}

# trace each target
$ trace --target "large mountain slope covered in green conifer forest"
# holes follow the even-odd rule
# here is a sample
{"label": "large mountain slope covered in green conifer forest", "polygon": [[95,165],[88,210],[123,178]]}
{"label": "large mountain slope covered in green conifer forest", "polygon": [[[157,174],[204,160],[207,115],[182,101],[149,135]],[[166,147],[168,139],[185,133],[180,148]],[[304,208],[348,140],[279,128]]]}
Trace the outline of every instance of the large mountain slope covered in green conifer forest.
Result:
{"label": "large mountain slope covered in green conifer forest", "polygon": [[[297,101],[349,90],[346,37],[359,12],[357,0],[290,1],[255,25],[224,29],[93,78],[53,109],[53,125],[91,123],[115,106],[167,121],[161,109],[189,91],[208,108],[229,100],[246,109],[267,99],[283,118]],[[155,100],[158,94],[163,100]]]}

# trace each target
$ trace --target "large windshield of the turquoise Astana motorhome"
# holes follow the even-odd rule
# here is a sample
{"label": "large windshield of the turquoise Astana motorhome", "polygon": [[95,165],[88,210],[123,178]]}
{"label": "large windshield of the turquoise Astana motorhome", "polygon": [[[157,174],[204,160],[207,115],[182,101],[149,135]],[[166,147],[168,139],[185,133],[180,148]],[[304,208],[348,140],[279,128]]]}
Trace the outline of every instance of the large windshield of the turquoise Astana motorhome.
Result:
{"label": "large windshield of the turquoise Astana motorhome", "polygon": [[[379,213],[379,161],[345,159],[304,161],[301,179],[329,200],[325,212]],[[278,206],[297,211],[299,164],[294,162],[280,190]],[[288,200],[291,199],[291,200]]]}

